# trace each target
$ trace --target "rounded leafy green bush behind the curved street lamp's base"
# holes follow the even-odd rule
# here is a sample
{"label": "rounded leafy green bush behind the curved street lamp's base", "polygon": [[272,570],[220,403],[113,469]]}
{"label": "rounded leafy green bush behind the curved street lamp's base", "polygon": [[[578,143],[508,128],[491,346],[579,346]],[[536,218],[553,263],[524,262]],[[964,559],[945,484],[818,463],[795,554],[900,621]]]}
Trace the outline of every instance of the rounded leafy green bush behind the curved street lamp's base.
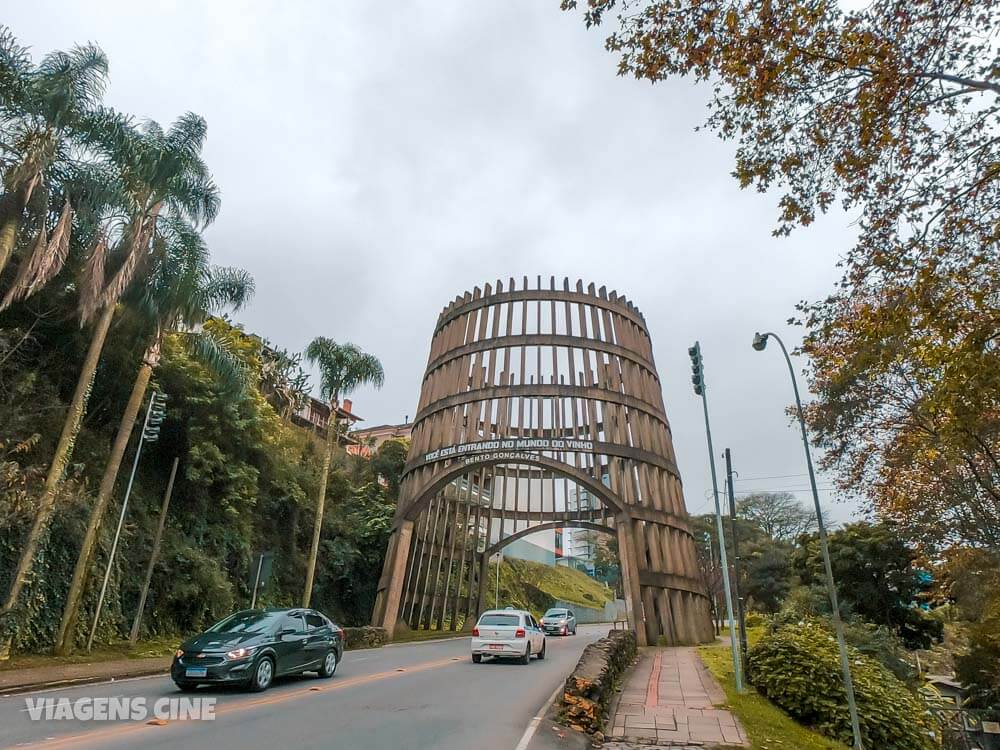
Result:
{"label": "rounded leafy green bush behind the curved street lamp's base", "polygon": [[[933,725],[920,699],[874,659],[849,647],[851,674],[866,747],[932,750]],[[814,620],[774,629],[749,653],[748,677],[799,721],[851,744],[847,695],[837,642]]]}

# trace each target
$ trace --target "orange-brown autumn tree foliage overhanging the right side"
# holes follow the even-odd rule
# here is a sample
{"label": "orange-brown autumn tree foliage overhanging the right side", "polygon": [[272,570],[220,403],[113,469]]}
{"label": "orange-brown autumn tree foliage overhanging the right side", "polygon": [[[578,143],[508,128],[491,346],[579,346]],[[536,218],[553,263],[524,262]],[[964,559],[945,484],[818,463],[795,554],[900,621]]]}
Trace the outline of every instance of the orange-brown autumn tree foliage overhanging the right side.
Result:
{"label": "orange-brown autumn tree foliage overhanging the right side", "polygon": [[621,75],[711,87],[734,176],[780,192],[776,234],[848,212],[841,282],[800,306],[826,465],[929,554],[997,549],[1000,4],[579,5]]}

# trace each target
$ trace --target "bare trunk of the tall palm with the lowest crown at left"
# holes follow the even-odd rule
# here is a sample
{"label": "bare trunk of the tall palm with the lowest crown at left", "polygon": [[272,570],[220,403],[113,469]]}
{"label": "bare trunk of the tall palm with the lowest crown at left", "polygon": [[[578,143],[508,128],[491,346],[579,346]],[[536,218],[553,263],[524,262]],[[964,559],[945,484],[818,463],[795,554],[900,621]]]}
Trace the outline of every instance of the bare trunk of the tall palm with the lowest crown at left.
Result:
{"label": "bare trunk of the tall palm with the lowest crown at left", "polygon": [[[150,348],[150,350],[152,347]],[[73,579],[69,585],[69,593],[66,595],[66,603],[63,605],[62,621],[59,624],[59,634],[56,636],[56,654],[66,656],[73,651],[74,636],[76,635],[76,617],[80,611],[80,599],[83,597],[83,589],[86,584],[87,571],[90,568],[91,557],[94,554],[94,545],[97,542],[97,533],[101,528],[101,521],[104,520],[104,512],[107,510],[108,501],[114,493],[115,482],[118,479],[118,471],[122,465],[122,458],[125,456],[125,449],[128,447],[129,437],[132,435],[132,428],[135,426],[136,417],[142,407],[143,397],[146,395],[146,388],[149,386],[149,379],[153,374],[153,364],[147,350],[143,358],[142,367],[135,377],[132,386],[132,395],[129,396],[122,414],[121,423],[118,425],[118,434],[115,442],[111,446],[111,455],[108,456],[108,464],[104,467],[104,476],[101,478],[101,486],[97,491],[97,499],[90,510],[90,521],[87,524],[87,533],[84,534],[83,544],[80,547],[80,554],[76,558],[76,567],[73,569]]]}

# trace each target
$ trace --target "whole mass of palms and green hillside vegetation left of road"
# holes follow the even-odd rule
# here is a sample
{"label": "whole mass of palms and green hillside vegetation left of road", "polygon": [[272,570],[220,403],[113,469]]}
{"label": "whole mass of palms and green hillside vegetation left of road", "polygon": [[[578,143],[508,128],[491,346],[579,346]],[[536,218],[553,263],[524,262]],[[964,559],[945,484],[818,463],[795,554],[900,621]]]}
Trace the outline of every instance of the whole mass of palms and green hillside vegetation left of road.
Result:
{"label": "whole mass of palms and green hillside vegetation left of road", "polygon": [[[129,632],[175,458],[140,643],[247,606],[265,551],[258,603],[311,598],[366,624],[406,446],[354,458],[336,411],[327,435],[294,421],[310,390],[300,355],[226,317],[254,283],[214,265],[203,236],[222,204],[207,123],[114,111],[108,70],[94,44],[36,60],[0,26],[0,661],[86,642],[153,392],[166,411],[143,445],[98,650]],[[317,337],[308,354],[334,410],[381,383],[353,345]]]}

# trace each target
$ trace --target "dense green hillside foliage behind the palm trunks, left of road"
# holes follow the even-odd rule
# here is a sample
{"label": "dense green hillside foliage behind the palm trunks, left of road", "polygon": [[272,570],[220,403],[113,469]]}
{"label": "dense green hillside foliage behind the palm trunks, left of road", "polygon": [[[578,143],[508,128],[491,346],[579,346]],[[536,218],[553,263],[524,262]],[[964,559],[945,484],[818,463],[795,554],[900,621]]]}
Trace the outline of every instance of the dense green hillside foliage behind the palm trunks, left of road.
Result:
{"label": "dense green hillside foliage behind the palm trunks, left of road", "polygon": [[[210,331],[233,338],[236,352],[253,373],[261,367],[260,342],[221,320]],[[0,409],[0,430],[17,442],[5,443],[0,485],[0,571],[12,560],[30,522],[33,490],[53,440],[59,392],[72,378],[73,359],[61,367],[45,362],[65,354],[57,344],[81,336],[72,322],[39,323],[22,343],[40,355],[31,365],[19,351],[0,351],[0,386],[17,408]],[[110,372],[129,361],[124,337],[109,345]],[[72,348],[70,348],[72,351]],[[12,366],[16,363],[16,367]],[[128,378],[126,378],[127,380]],[[95,383],[95,403],[81,433],[73,477],[63,484],[39,568],[28,586],[23,609],[8,627],[16,630],[21,651],[48,648],[66,594],[95,477],[103,468],[117,411],[127,398],[127,383],[103,377]],[[168,335],[155,387],[170,396],[160,440],[144,449],[136,487],[114,567],[99,638],[127,633],[141,585],[137,571],[148,561],[158,520],[161,493],[170,462],[181,457],[163,551],[157,565],[144,634],[189,633],[249,603],[247,577],[253,555],[275,553],[274,575],[263,592],[268,605],[298,603],[314,518],[315,488],[322,445],[317,437],[284,421],[254,387],[239,398],[185,345]],[[53,414],[55,412],[55,414]],[[330,472],[323,544],[314,605],[345,624],[365,624],[381,573],[389,523],[405,447],[386,443],[372,462],[338,451]],[[131,455],[131,449],[130,449]],[[34,486],[33,486],[34,483]],[[121,487],[119,487],[120,498]],[[113,504],[116,512],[117,505]],[[89,626],[96,599],[93,579],[103,572],[114,524],[102,529],[92,585],[83,602],[79,627]],[[5,585],[6,580],[0,580]],[[97,583],[99,583],[99,578]]]}

